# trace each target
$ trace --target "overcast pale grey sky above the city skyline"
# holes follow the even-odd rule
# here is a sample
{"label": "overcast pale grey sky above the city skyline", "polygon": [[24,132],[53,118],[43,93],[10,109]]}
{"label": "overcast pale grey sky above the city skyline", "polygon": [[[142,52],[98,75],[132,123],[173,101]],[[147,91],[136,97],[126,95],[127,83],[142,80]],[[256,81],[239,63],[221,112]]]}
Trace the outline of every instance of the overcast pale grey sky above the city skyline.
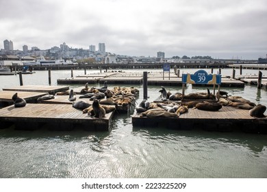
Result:
{"label": "overcast pale grey sky above the city skyline", "polygon": [[66,43],[127,56],[257,59],[267,53],[266,0],[0,0],[0,34],[50,49]]}

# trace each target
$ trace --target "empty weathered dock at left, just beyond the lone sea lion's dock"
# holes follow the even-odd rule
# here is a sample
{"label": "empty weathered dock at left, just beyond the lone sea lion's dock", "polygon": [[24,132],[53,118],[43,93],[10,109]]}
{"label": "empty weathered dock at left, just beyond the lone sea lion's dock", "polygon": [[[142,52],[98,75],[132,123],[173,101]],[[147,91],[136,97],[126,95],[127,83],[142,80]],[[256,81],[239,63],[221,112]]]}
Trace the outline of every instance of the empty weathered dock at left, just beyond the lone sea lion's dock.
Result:
{"label": "empty weathered dock at left, just beyond the lone sea lion's dock", "polygon": [[68,86],[23,85],[12,88],[3,88],[3,91],[28,91],[55,94],[59,91],[67,91],[68,88]]}

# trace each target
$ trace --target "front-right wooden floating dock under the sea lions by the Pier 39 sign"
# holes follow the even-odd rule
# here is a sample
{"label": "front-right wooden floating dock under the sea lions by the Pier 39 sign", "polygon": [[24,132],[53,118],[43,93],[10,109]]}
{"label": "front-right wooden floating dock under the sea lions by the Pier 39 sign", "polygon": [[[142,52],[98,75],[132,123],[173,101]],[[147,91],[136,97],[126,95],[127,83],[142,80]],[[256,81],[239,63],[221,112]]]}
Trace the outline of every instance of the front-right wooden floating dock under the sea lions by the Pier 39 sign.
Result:
{"label": "front-right wooden floating dock under the sea lions by the Pier 39 sign", "polygon": [[218,111],[204,111],[189,109],[179,118],[164,117],[132,117],[133,127],[162,126],[175,130],[201,129],[219,132],[251,132],[267,134],[267,118],[254,118],[249,115],[249,110],[242,110],[224,106]]}

